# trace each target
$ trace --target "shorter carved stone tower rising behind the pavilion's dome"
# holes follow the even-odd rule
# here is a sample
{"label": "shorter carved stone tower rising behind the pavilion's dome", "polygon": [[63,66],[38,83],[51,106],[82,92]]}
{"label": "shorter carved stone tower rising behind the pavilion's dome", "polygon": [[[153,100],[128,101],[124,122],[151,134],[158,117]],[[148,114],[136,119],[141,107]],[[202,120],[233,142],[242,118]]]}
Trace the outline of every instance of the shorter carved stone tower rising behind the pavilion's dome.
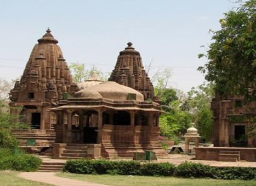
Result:
{"label": "shorter carved stone tower rising behind the pavilion's dome", "polygon": [[143,67],[140,53],[134,50],[132,43],[128,43],[125,50],[117,57],[115,69],[109,81],[134,88],[144,95],[144,99],[154,100],[153,85]]}

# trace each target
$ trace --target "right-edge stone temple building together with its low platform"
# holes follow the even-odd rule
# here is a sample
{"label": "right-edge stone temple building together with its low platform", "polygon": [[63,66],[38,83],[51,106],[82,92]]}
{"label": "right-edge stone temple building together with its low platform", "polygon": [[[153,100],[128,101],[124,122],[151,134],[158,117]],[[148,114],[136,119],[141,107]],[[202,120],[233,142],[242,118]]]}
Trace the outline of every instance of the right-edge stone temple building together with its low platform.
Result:
{"label": "right-edge stone temple building together with its low platform", "polygon": [[243,96],[224,97],[215,93],[212,100],[213,145],[197,147],[196,159],[219,161],[256,161],[255,101]]}

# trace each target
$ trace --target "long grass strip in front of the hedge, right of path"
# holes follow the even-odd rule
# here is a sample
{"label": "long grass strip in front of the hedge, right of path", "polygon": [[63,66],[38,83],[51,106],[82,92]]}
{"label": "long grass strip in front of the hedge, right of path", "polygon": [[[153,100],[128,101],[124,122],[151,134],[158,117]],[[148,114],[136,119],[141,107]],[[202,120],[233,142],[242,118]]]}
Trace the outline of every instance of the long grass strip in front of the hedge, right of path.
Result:
{"label": "long grass strip in front of the hedge, right of path", "polygon": [[119,175],[79,175],[71,173],[58,173],[57,176],[78,179],[81,181],[103,183],[112,186],[169,186],[169,185],[256,185],[256,181],[219,180],[219,179],[185,179],[176,177],[151,176],[119,176]]}

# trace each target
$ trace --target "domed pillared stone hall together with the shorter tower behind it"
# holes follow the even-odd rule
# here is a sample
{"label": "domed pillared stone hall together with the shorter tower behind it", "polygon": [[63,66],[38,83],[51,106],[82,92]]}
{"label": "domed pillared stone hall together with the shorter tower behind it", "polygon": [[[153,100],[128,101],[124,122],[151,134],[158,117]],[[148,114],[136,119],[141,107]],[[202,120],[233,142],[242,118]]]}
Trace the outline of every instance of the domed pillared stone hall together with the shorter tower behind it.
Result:
{"label": "domed pillared stone hall together with the shorter tower behind it", "polygon": [[[132,157],[134,152],[143,151],[165,153],[158,142],[161,105],[145,101],[144,95],[153,98],[152,83],[143,69],[139,52],[128,43],[120,55],[116,65],[120,69],[114,70],[112,76],[121,75],[115,80],[122,79],[118,82],[124,85],[132,82],[144,94],[114,81],[100,82],[96,77],[78,85],[81,90],[73,98],[50,109],[57,118],[54,158]],[[77,147],[87,150],[74,154],[72,149]]]}

